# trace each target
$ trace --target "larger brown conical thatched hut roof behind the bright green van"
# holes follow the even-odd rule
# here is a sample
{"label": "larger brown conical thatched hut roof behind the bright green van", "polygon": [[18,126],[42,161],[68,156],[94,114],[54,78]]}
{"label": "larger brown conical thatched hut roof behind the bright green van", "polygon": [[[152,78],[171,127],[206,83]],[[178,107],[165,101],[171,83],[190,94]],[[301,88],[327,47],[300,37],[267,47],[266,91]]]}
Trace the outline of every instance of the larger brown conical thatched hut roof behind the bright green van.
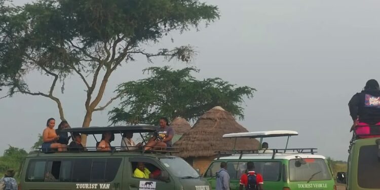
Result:
{"label": "larger brown conical thatched hut roof behind the bright green van", "polygon": [[[239,125],[231,113],[217,106],[207,111],[193,126],[174,143],[179,148],[178,156],[209,157],[216,155],[217,150],[232,150],[235,138],[222,138],[226,133],[248,132]],[[235,149],[254,149],[258,147],[256,139],[240,138]]]}

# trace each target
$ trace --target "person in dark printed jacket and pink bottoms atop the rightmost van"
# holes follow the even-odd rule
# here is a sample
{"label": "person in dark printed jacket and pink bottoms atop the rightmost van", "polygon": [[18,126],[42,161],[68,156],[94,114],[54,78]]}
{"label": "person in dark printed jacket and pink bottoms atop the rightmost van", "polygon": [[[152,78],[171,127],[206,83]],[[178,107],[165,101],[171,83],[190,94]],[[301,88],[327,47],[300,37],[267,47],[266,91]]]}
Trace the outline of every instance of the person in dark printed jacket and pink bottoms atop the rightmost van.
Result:
{"label": "person in dark printed jacket and pink bottoms atop the rightmost van", "polygon": [[380,136],[370,135],[369,127],[378,125],[380,128],[380,87],[376,80],[368,80],[364,89],[351,98],[349,109],[354,123],[350,131],[355,130],[356,135],[361,138]]}

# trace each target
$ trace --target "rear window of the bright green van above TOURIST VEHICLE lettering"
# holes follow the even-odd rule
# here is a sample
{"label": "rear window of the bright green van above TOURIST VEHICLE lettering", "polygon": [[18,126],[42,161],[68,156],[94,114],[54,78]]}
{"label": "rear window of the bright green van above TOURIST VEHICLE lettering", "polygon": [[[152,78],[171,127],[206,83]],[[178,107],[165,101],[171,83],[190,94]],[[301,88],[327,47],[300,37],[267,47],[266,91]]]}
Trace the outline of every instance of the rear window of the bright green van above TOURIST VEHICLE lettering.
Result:
{"label": "rear window of the bright green van above TOURIST VEHICLE lettering", "polygon": [[302,160],[293,159],[289,161],[290,181],[319,181],[331,179],[331,174],[323,159],[307,158]]}

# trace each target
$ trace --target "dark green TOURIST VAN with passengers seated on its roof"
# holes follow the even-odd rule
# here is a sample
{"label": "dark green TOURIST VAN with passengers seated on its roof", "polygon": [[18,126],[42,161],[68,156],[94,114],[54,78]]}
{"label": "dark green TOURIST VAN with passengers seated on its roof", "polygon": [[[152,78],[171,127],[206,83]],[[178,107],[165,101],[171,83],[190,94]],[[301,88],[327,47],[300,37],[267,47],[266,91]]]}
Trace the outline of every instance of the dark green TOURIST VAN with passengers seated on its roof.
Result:
{"label": "dark green TOURIST VAN with passengers seated on its roof", "polygon": [[[64,131],[95,137],[95,134],[106,131],[112,134],[133,132],[141,135],[156,132],[157,129],[155,126],[118,126]],[[96,151],[96,147],[87,147],[85,151],[34,151],[23,163],[19,189],[209,190],[208,181],[183,159],[171,156],[172,152],[173,150],[121,150],[121,147],[112,147],[111,151]],[[157,178],[134,177],[133,172],[138,162],[144,163],[152,173],[158,171]]]}

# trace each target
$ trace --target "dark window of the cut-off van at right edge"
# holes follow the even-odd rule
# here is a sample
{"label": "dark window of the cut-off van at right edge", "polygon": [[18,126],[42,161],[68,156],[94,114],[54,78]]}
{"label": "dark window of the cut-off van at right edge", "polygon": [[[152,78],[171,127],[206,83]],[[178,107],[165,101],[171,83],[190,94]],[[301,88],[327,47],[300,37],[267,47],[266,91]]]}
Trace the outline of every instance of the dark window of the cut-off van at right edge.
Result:
{"label": "dark window of the cut-off van at right edge", "polygon": [[377,151],[377,145],[360,147],[358,160],[358,185],[362,188],[380,188],[380,180],[378,180],[380,160],[378,159]]}

